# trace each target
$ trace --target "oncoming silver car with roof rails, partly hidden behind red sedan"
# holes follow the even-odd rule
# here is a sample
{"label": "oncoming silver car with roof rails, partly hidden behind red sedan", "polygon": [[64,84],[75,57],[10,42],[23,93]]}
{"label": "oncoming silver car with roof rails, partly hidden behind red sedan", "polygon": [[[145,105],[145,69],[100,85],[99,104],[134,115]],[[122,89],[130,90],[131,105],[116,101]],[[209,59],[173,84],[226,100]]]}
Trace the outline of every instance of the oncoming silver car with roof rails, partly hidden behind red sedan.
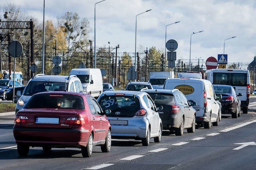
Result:
{"label": "oncoming silver car with roof rails, partly hidden behind red sedan", "polygon": [[26,104],[32,95],[46,91],[68,91],[83,92],[81,81],[75,75],[70,76],[54,76],[45,74],[36,74],[32,77],[16,104],[16,113]]}

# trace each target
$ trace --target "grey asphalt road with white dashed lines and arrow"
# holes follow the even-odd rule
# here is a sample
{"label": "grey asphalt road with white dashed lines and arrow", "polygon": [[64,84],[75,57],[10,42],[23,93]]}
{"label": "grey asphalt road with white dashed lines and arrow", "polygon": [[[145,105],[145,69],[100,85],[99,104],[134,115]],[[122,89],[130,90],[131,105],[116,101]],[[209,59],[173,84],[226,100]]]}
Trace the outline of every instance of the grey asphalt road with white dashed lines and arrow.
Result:
{"label": "grey asphalt road with white dashed lines and arrow", "polygon": [[90,158],[83,158],[79,149],[44,152],[39,147],[20,157],[12,134],[14,115],[0,117],[0,169],[256,169],[256,98],[250,103],[248,114],[237,119],[224,115],[218,127],[198,128],[182,137],[163,131],[162,141],[151,139],[148,147],[135,140],[112,140],[109,153],[96,146]]}

